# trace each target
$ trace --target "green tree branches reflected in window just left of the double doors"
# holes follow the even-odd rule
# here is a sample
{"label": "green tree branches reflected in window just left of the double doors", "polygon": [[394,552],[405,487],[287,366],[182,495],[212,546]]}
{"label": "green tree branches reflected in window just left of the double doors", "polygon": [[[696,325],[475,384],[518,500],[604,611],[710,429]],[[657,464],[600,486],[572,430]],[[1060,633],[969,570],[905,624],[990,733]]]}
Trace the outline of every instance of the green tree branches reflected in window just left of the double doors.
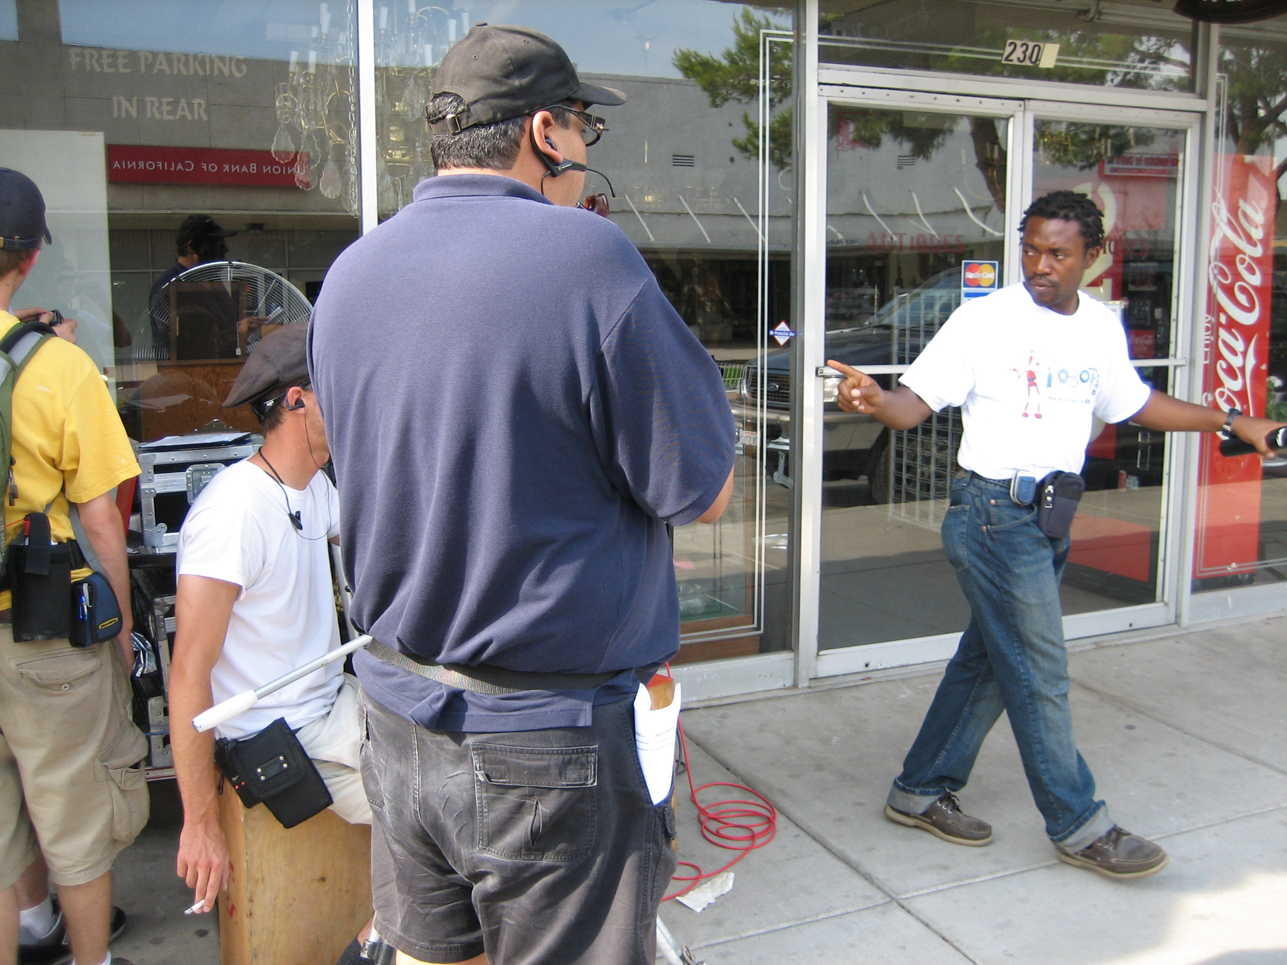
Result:
{"label": "green tree branches reflected in window just left of the double doors", "polygon": [[[710,107],[723,107],[730,100],[749,104],[759,98],[759,33],[780,30],[768,17],[757,17],[744,9],[734,18],[734,45],[718,57],[696,50],[674,51],[674,67],[685,77],[696,81]],[[768,45],[768,104],[780,106],[792,95],[792,49],[789,44]],[[734,138],[732,144],[745,157],[759,158],[759,124],[749,111],[741,112],[745,138]],[[792,163],[792,111],[780,111],[768,122],[768,160],[780,169]]]}

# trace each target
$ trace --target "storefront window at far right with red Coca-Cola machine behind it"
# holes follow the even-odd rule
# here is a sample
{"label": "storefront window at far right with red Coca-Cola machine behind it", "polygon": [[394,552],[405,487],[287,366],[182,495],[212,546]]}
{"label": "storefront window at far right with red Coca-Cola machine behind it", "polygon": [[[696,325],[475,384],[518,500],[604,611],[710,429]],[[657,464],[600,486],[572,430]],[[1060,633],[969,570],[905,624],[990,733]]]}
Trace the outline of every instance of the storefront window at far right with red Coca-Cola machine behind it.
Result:
{"label": "storefront window at far right with red Coca-Cola machine behind it", "polygon": [[[1287,18],[1220,27],[1203,401],[1287,419]],[[1194,589],[1287,579],[1287,459],[1198,454]]]}

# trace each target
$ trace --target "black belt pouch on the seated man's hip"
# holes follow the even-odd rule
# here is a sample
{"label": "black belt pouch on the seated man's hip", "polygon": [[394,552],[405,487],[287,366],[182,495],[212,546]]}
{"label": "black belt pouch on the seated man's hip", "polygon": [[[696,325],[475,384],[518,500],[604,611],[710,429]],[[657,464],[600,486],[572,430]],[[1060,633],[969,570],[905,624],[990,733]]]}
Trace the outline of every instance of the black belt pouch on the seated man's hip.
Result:
{"label": "black belt pouch on the seated man's hip", "polygon": [[282,717],[250,737],[220,737],[215,763],[242,804],[263,803],[282,827],[295,827],[331,807],[331,791],[317,764]]}

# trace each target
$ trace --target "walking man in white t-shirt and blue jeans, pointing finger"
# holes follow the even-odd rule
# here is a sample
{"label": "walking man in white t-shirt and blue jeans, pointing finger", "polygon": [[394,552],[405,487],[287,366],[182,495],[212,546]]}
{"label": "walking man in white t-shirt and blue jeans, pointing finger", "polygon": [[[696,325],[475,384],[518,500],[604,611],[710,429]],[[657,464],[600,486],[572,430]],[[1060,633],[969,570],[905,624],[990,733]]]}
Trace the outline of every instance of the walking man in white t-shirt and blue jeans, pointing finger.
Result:
{"label": "walking man in white t-shirt and blue jeans, pointing finger", "polygon": [[961,407],[961,471],[943,517],[943,548],[972,619],[925,714],[885,816],[954,844],[992,840],[987,822],[961,812],[987,732],[1004,710],[1028,785],[1060,861],[1108,878],[1161,871],[1166,853],[1118,827],[1077,751],[1068,708],[1059,580],[1068,537],[1048,535],[1033,499],[1012,481],[1077,473],[1094,419],[1160,431],[1232,431],[1269,454],[1279,423],[1192,405],[1149,389],[1130,364],[1121,322],[1079,292],[1104,244],[1102,214],[1062,190],[1023,215],[1023,283],[968,301],[900,378],[883,390],[847,365],[839,404],[891,428]]}

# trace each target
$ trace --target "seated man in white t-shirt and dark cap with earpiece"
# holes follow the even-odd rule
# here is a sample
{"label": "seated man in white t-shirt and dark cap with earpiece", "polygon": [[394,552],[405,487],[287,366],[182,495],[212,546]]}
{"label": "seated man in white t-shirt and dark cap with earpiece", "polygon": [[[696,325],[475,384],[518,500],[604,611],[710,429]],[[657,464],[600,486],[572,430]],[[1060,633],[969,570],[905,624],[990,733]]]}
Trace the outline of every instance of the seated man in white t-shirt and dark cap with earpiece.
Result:
{"label": "seated man in white t-shirt and dark cap with earpiece", "polygon": [[[305,326],[288,326],[264,338],[246,362],[224,405],[250,403],[264,426],[264,445],[206,485],[179,534],[170,666],[171,742],[184,812],[178,872],[205,911],[230,868],[218,818],[214,735],[197,733],[192,718],[340,646],[329,562],[340,504],[320,471],[331,455],[308,387],[305,340]],[[243,739],[277,718],[296,731],[317,764],[331,809],[350,823],[369,825],[358,769],[355,678],[332,663],[216,732]],[[351,944],[341,961],[356,955]]]}

